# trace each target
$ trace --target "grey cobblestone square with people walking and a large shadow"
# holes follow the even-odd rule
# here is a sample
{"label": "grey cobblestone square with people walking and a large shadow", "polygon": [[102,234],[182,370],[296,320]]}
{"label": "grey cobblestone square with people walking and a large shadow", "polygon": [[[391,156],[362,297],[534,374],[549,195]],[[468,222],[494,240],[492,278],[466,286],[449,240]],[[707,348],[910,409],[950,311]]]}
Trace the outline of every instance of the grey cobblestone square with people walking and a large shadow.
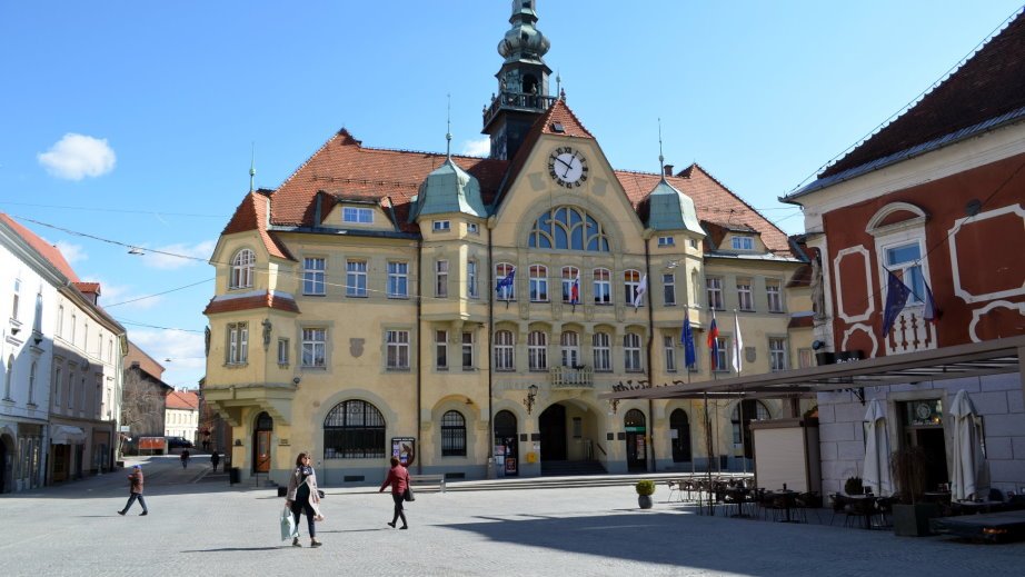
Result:
{"label": "grey cobblestone square with people walking and a large shadow", "polygon": [[[839,525],[696,515],[666,503],[637,508],[629,487],[420,491],[410,530],[391,529],[391,498],[375,487],[331,489],[319,549],[279,540],[272,488],[197,483],[176,457],[145,462],[150,515],[117,515],[127,471],[0,498],[0,574],[141,577],[209,575],[1022,575],[1025,544],[898,538]],[[132,461],[129,461],[131,464]],[[825,511],[824,515],[829,515]]]}

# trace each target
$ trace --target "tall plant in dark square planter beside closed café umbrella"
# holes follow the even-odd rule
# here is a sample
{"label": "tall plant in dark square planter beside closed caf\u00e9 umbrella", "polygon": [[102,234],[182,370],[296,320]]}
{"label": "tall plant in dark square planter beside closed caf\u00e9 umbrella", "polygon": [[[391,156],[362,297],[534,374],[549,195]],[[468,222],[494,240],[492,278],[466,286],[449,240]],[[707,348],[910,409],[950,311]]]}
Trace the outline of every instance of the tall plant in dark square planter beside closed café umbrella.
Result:
{"label": "tall plant in dark square planter beside closed caf\u00e9 umbrella", "polygon": [[894,451],[890,464],[897,494],[894,495],[894,535],[920,537],[932,535],[929,519],[939,516],[939,506],[922,500],[926,488],[925,450],[922,447],[906,447]]}

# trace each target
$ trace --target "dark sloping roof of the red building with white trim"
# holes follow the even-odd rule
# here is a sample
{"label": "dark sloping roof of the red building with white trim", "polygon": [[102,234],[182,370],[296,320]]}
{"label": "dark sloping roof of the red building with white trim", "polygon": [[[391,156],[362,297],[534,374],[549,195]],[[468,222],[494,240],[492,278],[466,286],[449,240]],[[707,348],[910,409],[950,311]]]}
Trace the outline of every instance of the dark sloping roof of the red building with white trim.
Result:
{"label": "dark sloping roof of the red building with white trim", "polygon": [[900,117],[818,178],[929,142],[1025,107],[1025,18],[1022,12],[959,69]]}

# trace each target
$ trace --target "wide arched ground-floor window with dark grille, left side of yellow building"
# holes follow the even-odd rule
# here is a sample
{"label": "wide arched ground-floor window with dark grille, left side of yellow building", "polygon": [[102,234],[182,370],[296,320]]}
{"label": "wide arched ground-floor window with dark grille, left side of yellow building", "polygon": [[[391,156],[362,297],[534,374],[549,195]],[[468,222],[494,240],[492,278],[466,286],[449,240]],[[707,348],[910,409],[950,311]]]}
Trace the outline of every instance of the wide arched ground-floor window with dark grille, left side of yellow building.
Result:
{"label": "wide arched ground-floor window with dark grille, left side of yellow building", "polygon": [[385,457],[385,417],[362,400],[339,402],[324,419],[325,459]]}

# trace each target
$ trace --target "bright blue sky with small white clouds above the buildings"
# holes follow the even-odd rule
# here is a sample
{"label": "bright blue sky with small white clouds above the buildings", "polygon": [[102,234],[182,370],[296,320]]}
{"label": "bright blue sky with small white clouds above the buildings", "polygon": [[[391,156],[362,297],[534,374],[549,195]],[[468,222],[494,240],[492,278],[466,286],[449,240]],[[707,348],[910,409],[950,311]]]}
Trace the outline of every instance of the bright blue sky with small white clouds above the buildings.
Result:
{"label": "bright blue sky with small white clouds above the buildings", "polygon": [[[251,148],[265,188],[342,127],[365,146],[444,151],[451,94],[454,150],[480,150],[509,8],[0,0],[0,211],[102,283],[101,305],[167,382],[195,387],[213,292],[206,261],[248,191]],[[546,61],[614,167],[658,170],[660,118],[667,163],[698,162],[790,233],[803,219],[779,196],[1019,8],[537,2]]]}

